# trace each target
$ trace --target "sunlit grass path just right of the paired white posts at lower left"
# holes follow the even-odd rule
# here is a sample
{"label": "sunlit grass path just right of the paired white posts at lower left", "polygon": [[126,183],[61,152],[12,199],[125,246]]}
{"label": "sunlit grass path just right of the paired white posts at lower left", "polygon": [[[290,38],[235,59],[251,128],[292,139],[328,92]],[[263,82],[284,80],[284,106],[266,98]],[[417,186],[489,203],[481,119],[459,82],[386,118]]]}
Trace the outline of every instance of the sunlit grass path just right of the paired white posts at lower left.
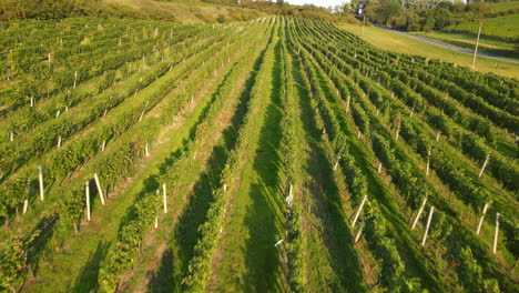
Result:
{"label": "sunlit grass path just right of the paired white posts at lower left", "polygon": [[[118,196],[110,198],[110,204],[93,206],[92,222],[81,229],[80,238],[72,234],[62,236],[63,242],[67,240],[64,249],[48,252],[50,256],[40,264],[38,282],[26,286],[27,292],[88,292],[95,284],[99,264],[110,245],[114,244],[113,240],[116,239],[125,211],[134,203],[138,194],[145,190],[147,179],[157,174],[162,163],[190,138],[192,128],[199,123],[207,102],[208,98],[205,95],[184,123],[174,130],[174,135],[171,132],[162,134],[164,143],[156,150],[152,149],[152,156],[141,164],[139,174]],[[59,242],[61,241],[55,240],[57,247]],[[70,257],[71,254],[74,257]]]}

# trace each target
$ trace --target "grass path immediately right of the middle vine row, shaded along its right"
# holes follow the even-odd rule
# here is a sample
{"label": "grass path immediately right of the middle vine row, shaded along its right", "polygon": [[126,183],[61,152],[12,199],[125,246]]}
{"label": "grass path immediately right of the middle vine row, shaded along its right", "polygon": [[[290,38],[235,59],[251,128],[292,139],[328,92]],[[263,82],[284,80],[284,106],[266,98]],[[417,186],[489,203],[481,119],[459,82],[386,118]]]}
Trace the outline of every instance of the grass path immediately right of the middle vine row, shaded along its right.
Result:
{"label": "grass path immediately right of the middle vine row, shaded along its right", "polygon": [[311,292],[365,292],[363,272],[353,247],[347,215],[343,211],[343,190],[334,180],[332,165],[317,125],[309,89],[304,85],[303,68],[294,62],[299,120],[304,130],[303,233],[308,262]]}

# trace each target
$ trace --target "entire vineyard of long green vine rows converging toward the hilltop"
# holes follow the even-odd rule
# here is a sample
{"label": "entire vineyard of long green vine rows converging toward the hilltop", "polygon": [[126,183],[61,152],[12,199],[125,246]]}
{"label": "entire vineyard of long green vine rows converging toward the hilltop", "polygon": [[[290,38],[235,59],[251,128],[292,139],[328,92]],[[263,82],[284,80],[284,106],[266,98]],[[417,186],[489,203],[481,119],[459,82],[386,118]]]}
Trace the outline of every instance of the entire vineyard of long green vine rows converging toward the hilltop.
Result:
{"label": "entire vineyard of long green vine rows converging toward the hilltop", "polygon": [[0,292],[518,292],[518,130],[330,22],[0,23]]}

